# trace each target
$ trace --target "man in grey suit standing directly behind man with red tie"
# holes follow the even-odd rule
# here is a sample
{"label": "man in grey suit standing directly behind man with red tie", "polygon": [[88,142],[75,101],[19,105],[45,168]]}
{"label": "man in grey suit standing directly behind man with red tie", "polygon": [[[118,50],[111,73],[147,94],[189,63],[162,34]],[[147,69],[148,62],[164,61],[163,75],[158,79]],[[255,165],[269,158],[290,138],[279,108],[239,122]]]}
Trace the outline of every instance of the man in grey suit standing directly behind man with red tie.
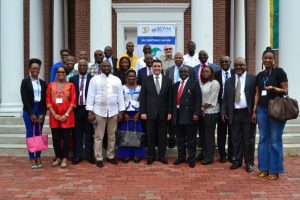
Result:
{"label": "man in grey suit standing directly behind man with red tie", "polygon": [[[177,52],[174,56],[175,65],[168,68],[166,70],[166,77],[168,77],[173,84],[180,81],[179,69],[182,67],[186,67],[189,73],[189,79],[194,79],[194,70],[192,67],[183,64],[183,55],[180,52]],[[175,133],[173,130],[172,122],[168,124],[168,133],[169,133],[169,141],[168,147],[173,148],[176,144]]]}

